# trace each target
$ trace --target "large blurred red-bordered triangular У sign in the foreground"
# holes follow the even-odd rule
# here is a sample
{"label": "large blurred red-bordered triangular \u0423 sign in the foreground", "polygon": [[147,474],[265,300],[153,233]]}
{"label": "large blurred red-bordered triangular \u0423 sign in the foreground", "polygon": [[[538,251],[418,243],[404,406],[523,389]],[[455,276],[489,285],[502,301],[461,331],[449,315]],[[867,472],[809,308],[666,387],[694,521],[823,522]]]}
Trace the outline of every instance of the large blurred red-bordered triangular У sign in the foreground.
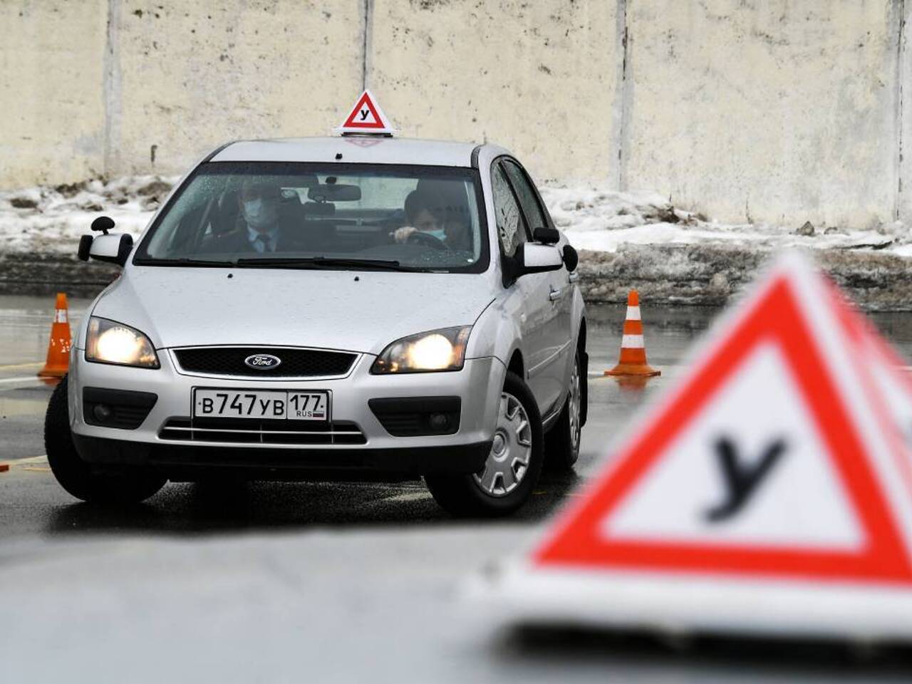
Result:
{"label": "large blurred red-bordered triangular \u0423 sign in the foreground", "polygon": [[532,565],[912,586],[896,426],[822,276],[786,257]]}

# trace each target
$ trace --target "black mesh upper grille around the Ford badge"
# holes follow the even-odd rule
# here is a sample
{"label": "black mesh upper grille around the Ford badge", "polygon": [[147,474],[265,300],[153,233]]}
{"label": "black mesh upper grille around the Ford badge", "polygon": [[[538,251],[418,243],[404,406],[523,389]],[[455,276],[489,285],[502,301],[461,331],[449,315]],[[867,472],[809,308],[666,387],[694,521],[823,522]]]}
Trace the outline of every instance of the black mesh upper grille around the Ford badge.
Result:
{"label": "black mesh upper grille around the Ford badge", "polygon": [[[244,363],[257,354],[270,354],[282,363],[275,368],[251,368]],[[345,375],[358,358],[351,352],[294,347],[192,347],[175,349],[174,356],[188,373],[263,379]]]}

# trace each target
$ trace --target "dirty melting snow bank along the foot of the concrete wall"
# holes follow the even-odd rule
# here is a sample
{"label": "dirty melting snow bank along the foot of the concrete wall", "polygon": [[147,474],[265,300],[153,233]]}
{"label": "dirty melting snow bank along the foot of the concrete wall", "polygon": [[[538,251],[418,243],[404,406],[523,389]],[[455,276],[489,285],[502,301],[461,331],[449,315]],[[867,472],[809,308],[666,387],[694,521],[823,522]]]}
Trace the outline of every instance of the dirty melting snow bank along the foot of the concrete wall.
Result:
{"label": "dirty melting snow bank along the foot of the concrete wall", "polygon": [[[137,176],[0,192],[0,252],[70,252],[96,217],[107,214],[117,230],[138,236],[176,178]],[[578,249],[617,252],[635,245],[731,245],[884,250],[912,256],[901,223],[848,230],[836,227],[727,224],[682,211],[655,192],[612,192],[575,185],[542,190],[554,223]]]}

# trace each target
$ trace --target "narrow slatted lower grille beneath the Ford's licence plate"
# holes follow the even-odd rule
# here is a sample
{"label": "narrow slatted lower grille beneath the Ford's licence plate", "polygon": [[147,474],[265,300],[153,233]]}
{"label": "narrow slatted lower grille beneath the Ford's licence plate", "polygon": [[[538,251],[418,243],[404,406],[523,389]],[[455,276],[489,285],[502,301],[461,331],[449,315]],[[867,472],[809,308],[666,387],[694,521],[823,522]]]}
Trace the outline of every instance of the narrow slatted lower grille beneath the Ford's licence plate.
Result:
{"label": "narrow slatted lower grille beneath the Ford's licence plate", "polygon": [[334,420],[309,425],[301,420],[171,418],[161,440],[218,441],[225,444],[366,444],[357,423]]}

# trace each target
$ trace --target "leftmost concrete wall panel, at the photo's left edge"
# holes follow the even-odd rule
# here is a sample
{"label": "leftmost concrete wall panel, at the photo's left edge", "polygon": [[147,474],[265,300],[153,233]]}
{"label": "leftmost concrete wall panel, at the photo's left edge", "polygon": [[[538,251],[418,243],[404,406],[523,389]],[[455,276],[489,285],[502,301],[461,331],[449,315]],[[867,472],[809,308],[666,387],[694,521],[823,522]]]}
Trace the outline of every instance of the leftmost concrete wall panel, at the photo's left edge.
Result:
{"label": "leftmost concrete wall panel, at the photo's left edge", "polygon": [[0,188],[101,172],[108,3],[0,3]]}

